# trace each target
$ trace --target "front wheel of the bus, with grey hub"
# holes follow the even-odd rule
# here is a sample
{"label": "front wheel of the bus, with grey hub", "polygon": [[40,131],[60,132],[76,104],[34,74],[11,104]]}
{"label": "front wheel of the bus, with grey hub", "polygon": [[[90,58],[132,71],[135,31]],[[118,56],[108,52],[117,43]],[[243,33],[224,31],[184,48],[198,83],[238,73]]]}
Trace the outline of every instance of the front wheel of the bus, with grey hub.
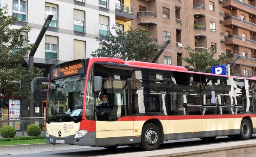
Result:
{"label": "front wheel of the bus, with grey hub", "polygon": [[142,128],[142,139],[139,147],[144,151],[156,150],[161,143],[161,132],[157,125],[147,123]]}

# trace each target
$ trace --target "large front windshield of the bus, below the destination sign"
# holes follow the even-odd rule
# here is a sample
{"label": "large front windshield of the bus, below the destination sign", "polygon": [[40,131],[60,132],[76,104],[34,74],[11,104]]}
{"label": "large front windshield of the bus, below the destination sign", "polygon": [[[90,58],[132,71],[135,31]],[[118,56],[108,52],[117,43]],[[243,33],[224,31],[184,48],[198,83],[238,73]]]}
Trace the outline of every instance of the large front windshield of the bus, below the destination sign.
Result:
{"label": "large front windshield of the bus, below the destination sign", "polygon": [[51,81],[48,93],[47,123],[81,121],[84,89],[85,75]]}

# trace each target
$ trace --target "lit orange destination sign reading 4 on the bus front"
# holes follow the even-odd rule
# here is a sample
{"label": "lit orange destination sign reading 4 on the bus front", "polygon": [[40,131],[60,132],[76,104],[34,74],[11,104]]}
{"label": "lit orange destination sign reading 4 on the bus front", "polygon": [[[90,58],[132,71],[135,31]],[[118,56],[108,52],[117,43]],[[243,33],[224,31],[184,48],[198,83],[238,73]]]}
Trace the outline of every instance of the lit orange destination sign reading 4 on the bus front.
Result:
{"label": "lit orange destination sign reading 4 on the bus front", "polygon": [[55,80],[61,77],[67,77],[71,75],[78,75],[85,73],[85,64],[83,61],[78,63],[71,63],[67,65],[61,65],[51,69],[51,79]]}

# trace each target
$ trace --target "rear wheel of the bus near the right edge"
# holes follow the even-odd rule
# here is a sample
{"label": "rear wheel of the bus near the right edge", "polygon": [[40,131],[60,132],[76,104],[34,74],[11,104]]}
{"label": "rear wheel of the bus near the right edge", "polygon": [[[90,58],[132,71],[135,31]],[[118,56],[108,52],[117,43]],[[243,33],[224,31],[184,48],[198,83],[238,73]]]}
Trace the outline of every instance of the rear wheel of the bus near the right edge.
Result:
{"label": "rear wheel of the bus near the right edge", "polygon": [[243,119],[240,127],[240,134],[238,135],[238,139],[240,140],[248,140],[252,135],[252,127],[251,123],[247,119]]}

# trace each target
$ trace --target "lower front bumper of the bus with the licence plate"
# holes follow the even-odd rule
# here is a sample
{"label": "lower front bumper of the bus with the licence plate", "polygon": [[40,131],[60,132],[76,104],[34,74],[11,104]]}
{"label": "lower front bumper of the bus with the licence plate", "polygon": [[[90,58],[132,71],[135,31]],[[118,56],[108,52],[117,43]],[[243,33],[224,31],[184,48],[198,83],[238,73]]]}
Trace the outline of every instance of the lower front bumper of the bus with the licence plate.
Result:
{"label": "lower front bumper of the bus with the licence plate", "polygon": [[46,143],[50,144],[73,144],[81,146],[95,146],[96,145],[96,134],[95,132],[88,132],[84,137],[74,138],[75,135],[70,135],[67,137],[55,137],[49,135],[46,137]]}

